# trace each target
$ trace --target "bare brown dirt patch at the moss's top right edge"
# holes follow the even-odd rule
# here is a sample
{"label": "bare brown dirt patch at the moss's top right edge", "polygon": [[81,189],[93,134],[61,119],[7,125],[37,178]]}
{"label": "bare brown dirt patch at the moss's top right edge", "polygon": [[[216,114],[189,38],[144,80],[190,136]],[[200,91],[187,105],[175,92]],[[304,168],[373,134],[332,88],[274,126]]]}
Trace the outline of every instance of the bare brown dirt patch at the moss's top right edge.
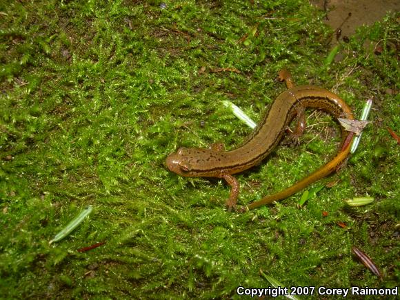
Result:
{"label": "bare brown dirt patch at the moss's top right edge", "polygon": [[[326,23],[333,30],[341,28],[342,37],[350,37],[359,26],[381,20],[389,11],[400,10],[398,0],[310,0],[310,3],[328,13]],[[351,17],[346,20],[350,12]]]}

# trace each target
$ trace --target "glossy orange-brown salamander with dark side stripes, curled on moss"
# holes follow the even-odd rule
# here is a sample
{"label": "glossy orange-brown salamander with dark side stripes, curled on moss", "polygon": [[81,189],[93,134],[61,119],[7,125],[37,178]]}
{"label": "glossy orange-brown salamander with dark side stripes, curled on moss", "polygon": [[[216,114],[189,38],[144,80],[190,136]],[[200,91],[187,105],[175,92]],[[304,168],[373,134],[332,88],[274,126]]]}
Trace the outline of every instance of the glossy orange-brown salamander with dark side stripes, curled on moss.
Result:
{"label": "glossy orange-brown salamander with dark side stripes, curled on moss", "polygon": [[[293,132],[293,137],[297,139],[306,127],[305,108],[326,110],[335,118],[354,119],[351,108],[337,94],[316,86],[294,86],[290,74],[286,70],[279,72],[279,79],[286,81],[288,90],[279,94],[268,112],[264,114],[257,127],[241,146],[229,151],[224,150],[221,143],[216,143],[210,148],[181,147],[168,155],[166,159],[168,169],[183,177],[225,179],[231,186],[230,196],[226,201],[226,205],[231,210],[236,207],[237,197],[239,196],[239,181],[232,175],[261,163],[281,141],[283,134],[296,116],[297,127]],[[346,137],[346,132],[343,129],[342,135]],[[349,135],[349,137],[352,136]],[[270,194],[259,201],[250,203],[250,205],[241,208],[241,211],[285,199],[303,190],[314,181],[337,170],[349,152],[350,143],[347,143],[331,161],[312,172],[308,177],[294,183],[286,190]]]}

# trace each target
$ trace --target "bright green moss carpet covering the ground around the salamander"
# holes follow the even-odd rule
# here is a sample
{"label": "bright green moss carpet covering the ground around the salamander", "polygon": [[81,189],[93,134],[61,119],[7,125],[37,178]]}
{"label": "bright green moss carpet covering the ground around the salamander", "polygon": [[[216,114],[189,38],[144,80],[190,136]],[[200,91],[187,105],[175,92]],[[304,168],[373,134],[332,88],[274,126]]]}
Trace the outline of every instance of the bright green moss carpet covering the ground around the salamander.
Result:
{"label": "bright green moss carpet covering the ground around the salamander", "polygon": [[[345,58],[326,67],[332,32],[308,1],[165,3],[0,4],[0,294],[234,297],[237,286],[269,286],[259,269],[286,286],[395,286],[399,151],[386,126],[399,133],[397,16],[360,28],[342,45]],[[250,130],[219,101],[260,119],[285,90],[275,81],[282,67],[297,83],[333,89],[357,114],[372,97],[372,124],[341,181],[302,209],[297,194],[229,213],[225,183],[177,177],[163,163],[178,146],[237,146]],[[239,203],[328,161],[339,130],[323,114],[308,125],[301,146],[279,146],[238,176]],[[343,204],[366,194],[370,206]],[[49,246],[88,205],[90,218]],[[383,281],[352,258],[352,245]]]}

